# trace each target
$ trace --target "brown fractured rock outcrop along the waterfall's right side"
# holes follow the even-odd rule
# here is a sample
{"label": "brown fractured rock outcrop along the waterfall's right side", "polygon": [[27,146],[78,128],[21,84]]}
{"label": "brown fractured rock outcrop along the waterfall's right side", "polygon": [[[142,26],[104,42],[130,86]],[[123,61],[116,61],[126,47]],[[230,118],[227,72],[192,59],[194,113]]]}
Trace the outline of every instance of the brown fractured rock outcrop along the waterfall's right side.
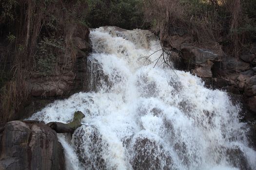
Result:
{"label": "brown fractured rock outcrop along the waterfall's right side", "polygon": [[199,48],[189,44],[189,39],[187,34],[173,35],[166,43],[167,48],[179,51],[175,66],[202,78],[209,87],[240,95],[249,110],[246,119],[256,119],[256,44],[234,58],[225,55],[218,43]]}

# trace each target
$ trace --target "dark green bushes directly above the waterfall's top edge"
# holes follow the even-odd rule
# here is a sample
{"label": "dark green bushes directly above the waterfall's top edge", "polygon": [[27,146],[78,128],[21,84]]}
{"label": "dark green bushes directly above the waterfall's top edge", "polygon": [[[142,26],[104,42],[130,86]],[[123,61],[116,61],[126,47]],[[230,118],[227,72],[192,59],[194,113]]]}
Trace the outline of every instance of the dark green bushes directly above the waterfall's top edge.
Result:
{"label": "dark green bushes directly above the waterfall's top edge", "polygon": [[142,5],[142,0],[88,0],[86,20],[93,28],[106,25],[142,28]]}

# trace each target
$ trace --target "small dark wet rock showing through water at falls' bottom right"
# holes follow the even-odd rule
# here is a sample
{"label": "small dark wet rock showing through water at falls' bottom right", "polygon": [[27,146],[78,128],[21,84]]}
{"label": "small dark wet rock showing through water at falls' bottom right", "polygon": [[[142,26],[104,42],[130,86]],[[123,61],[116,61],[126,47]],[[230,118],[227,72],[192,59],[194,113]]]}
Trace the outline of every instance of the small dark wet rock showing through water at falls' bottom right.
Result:
{"label": "small dark wet rock showing through water at falls' bottom right", "polygon": [[239,170],[252,170],[245,154],[240,148],[229,148],[226,151],[228,162]]}

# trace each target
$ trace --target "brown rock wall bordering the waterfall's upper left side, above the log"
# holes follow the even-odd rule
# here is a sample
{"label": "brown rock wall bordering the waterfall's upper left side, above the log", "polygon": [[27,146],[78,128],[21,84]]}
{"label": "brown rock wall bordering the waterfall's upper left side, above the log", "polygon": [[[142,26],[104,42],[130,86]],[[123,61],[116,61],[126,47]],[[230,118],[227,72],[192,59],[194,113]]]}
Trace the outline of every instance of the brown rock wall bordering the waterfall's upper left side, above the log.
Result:
{"label": "brown rock wall bordering the waterfall's upper left side, above the log", "polygon": [[77,28],[72,37],[72,50],[56,52],[56,61],[49,75],[34,74],[27,80],[29,99],[20,108],[16,119],[26,118],[48,103],[87,91],[87,56],[92,50],[87,27]]}

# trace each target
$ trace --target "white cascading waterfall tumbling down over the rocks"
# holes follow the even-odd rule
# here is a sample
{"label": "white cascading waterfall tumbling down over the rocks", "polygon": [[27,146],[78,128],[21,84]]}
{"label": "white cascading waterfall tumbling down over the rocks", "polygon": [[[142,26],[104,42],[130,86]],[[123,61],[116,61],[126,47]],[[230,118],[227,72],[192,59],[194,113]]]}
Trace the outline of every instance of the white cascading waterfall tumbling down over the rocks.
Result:
{"label": "white cascading waterfall tumbling down over the rocks", "polygon": [[188,72],[154,67],[160,45],[151,32],[102,27],[90,37],[92,92],[31,117],[86,115],[72,139],[58,134],[68,170],[256,170],[239,106]]}

